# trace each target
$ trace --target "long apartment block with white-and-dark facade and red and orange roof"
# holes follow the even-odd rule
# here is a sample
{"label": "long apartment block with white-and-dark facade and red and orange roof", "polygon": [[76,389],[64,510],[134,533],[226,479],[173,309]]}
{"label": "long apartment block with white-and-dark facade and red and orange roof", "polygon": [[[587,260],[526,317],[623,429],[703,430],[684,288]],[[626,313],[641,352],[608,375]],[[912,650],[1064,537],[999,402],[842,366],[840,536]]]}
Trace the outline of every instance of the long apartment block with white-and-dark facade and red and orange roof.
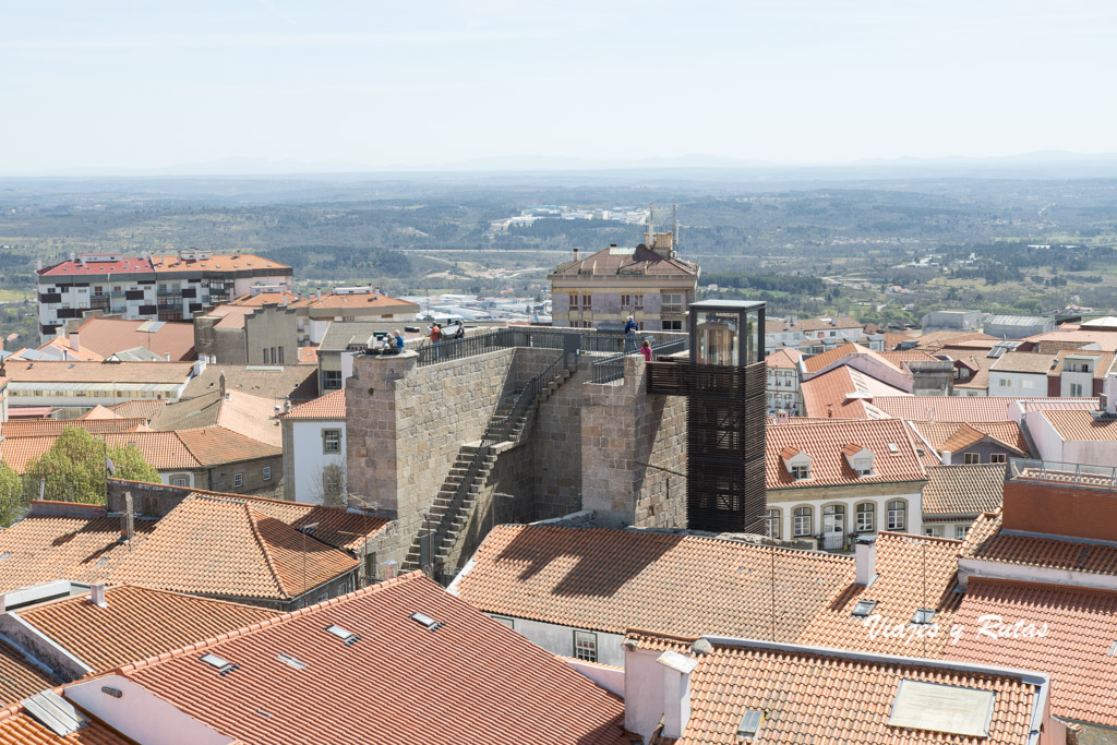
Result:
{"label": "long apartment block with white-and-dark facade and red and orange roof", "polygon": [[257,285],[290,289],[292,268],[252,254],[190,249],[170,256],[70,255],[36,271],[44,342],[87,311],[124,318],[189,321]]}

